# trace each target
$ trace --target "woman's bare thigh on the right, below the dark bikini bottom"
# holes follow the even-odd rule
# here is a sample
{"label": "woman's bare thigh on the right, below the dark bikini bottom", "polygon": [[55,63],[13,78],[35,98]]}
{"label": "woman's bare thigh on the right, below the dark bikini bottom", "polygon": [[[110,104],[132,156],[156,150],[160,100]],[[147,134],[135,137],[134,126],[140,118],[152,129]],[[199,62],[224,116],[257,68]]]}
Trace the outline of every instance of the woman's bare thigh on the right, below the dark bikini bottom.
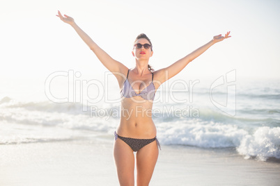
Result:
{"label": "woman's bare thigh on the right, below the dark bikini bottom", "polygon": [[150,183],[158,155],[159,149],[156,141],[143,146],[137,152],[137,185],[148,185]]}

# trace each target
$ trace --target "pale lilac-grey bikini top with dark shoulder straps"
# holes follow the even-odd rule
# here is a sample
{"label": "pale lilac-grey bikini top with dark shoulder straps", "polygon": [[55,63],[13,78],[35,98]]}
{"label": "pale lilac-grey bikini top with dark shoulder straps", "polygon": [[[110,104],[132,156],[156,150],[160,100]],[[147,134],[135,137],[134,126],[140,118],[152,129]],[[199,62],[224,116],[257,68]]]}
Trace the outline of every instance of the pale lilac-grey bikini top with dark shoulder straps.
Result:
{"label": "pale lilac-grey bikini top with dark shoulder straps", "polygon": [[127,77],[130,73],[130,69],[127,71],[126,80],[123,83],[123,89],[120,91],[120,95],[126,98],[130,98],[133,96],[141,96],[141,98],[146,100],[154,100],[155,98],[155,85],[153,83],[154,74],[152,73],[152,83],[150,83],[147,87],[145,87],[139,94],[137,94],[134,89],[132,88],[132,85],[130,85],[130,82],[128,81]]}

